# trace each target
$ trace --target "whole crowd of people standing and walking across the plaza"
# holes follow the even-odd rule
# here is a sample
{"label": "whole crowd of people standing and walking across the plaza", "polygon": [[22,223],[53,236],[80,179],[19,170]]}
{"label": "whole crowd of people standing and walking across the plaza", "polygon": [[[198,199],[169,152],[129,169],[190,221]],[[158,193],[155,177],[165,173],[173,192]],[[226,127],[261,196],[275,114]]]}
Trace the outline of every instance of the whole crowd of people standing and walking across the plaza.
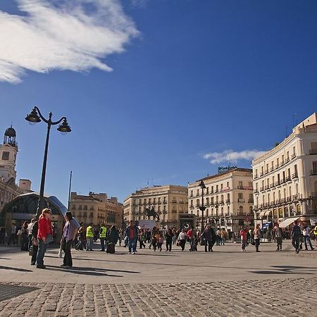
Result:
{"label": "whole crowd of people standing and walking across the plaza", "polygon": [[[10,245],[18,244],[22,251],[30,251],[31,265],[37,268],[46,268],[44,266],[44,254],[48,245],[54,240],[54,226],[51,223],[51,210],[43,209],[39,220],[32,219],[30,223],[25,221],[18,227],[12,223],[11,231],[6,234],[4,227],[0,228],[0,243]],[[78,251],[94,251],[94,243],[100,241],[99,251],[107,253],[116,252],[116,244],[119,242],[121,246],[128,247],[128,254],[137,252],[137,244],[139,249],[147,247],[154,251],[166,252],[172,251],[172,247],[180,247],[181,251],[185,251],[187,242],[189,251],[197,251],[197,246],[204,246],[205,252],[213,251],[213,246],[225,245],[228,238],[224,228],[216,228],[214,230],[211,225],[206,225],[204,230],[196,230],[194,227],[185,230],[185,228],[169,228],[161,230],[160,228],[142,229],[139,228],[135,221],[131,220],[125,230],[117,229],[115,225],[106,226],[104,223],[94,226],[92,223],[85,225],[78,223],[69,211],[65,215],[65,225],[61,240],[60,254],[64,253],[64,268],[73,267],[73,259],[71,249]],[[298,223],[294,220],[292,228],[289,230],[290,238],[295,252],[298,254],[300,250],[313,250],[311,238],[317,242],[317,223],[313,228],[305,223]],[[263,230],[259,224],[255,228],[242,228],[239,232],[241,241],[241,250],[246,251],[249,244],[255,247],[256,252],[260,252],[260,242],[263,237]],[[288,232],[287,232],[288,235]],[[278,223],[271,228],[271,237],[276,243],[276,251],[282,251],[282,243],[285,239],[285,230],[282,230]]]}

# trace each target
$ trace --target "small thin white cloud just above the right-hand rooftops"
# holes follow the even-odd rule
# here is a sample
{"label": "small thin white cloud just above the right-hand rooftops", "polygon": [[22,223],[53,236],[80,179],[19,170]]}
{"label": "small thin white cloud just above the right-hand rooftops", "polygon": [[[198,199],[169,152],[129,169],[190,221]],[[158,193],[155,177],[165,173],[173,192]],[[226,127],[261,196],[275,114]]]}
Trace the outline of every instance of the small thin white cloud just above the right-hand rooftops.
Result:
{"label": "small thin white cloud just above the right-hand rooftops", "polygon": [[233,151],[226,150],[223,152],[213,152],[204,154],[204,159],[209,159],[211,164],[218,164],[223,162],[237,163],[239,160],[251,161],[265,154],[266,151],[259,150],[245,150],[245,151]]}

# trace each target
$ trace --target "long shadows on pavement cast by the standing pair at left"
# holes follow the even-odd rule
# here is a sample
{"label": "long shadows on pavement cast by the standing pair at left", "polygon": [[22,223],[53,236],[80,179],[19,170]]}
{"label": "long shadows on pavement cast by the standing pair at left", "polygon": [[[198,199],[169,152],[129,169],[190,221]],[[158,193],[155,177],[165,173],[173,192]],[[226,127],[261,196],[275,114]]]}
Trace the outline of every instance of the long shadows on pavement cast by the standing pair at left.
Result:
{"label": "long shadows on pavement cast by the standing pair at left", "polygon": [[73,267],[73,268],[63,268],[61,266],[46,266],[50,268],[51,271],[63,271],[68,273],[80,274],[80,275],[91,275],[91,276],[109,276],[114,278],[123,278],[123,275],[113,275],[106,272],[120,272],[120,273],[130,273],[130,274],[140,274],[137,271],[125,271],[125,270],[111,270],[105,268],[85,268],[85,267]]}

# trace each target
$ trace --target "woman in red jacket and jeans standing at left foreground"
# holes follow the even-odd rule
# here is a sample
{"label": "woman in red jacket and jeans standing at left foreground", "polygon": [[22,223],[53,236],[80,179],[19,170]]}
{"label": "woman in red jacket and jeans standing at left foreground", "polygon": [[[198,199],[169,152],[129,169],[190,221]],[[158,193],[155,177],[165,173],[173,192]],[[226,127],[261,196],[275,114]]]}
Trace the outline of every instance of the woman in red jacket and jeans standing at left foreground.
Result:
{"label": "woman in red jacket and jeans standing at left foreground", "polygon": [[45,208],[42,215],[39,216],[39,230],[37,239],[39,240],[39,251],[37,251],[37,268],[46,268],[44,266],[44,254],[49,243],[53,240],[53,228],[51,228],[51,209]]}

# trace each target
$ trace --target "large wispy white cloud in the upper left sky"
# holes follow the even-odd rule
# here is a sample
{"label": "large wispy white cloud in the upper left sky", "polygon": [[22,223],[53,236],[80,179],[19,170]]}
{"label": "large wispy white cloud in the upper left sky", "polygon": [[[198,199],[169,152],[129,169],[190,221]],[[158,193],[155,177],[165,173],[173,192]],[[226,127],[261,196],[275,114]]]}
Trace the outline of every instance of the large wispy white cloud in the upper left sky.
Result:
{"label": "large wispy white cloud in the upper left sky", "polygon": [[27,70],[111,71],[104,61],[138,35],[119,0],[17,0],[23,15],[0,11],[0,81]]}

